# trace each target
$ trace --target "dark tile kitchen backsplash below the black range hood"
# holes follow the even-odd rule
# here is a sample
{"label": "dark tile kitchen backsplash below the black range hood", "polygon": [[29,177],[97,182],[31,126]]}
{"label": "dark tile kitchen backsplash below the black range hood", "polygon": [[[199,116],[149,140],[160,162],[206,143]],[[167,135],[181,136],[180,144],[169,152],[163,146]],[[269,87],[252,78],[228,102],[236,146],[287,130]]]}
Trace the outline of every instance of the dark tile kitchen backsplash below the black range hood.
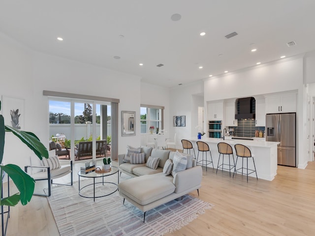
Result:
{"label": "dark tile kitchen backsplash below the black range hood", "polygon": [[237,137],[255,137],[255,130],[265,131],[265,126],[255,126],[254,119],[238,119],[238,126],[229,126],[234,128],[234,136]]}

